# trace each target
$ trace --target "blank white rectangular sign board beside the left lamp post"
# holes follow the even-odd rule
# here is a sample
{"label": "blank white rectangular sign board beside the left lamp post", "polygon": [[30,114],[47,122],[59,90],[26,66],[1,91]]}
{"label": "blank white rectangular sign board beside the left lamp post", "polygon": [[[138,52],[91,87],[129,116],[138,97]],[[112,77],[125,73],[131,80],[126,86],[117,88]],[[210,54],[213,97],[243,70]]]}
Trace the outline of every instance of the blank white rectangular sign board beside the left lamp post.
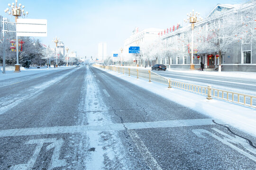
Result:
{"label": "blank white rectangular sign board beside the left lamp post", "polygon": [[18,19],[18,36],[47,36],[47,19]]}

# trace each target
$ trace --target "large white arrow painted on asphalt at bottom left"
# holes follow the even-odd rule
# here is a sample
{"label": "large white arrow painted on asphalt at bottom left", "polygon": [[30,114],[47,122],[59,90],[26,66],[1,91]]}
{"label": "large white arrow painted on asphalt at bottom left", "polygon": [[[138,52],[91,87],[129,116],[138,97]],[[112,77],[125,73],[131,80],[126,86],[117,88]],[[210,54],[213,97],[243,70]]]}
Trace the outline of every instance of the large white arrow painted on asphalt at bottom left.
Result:
{"label": "large white arrow painted on asphalt at bottom left", "polygon": [[43,147],[44,143],[52,143],[46,147],[46,151],[54,148],[53,156],[51,159],[50,166],[48,170],[53,170],[55,167],[66,166],[66,160],[59,160],[60,149],[64,143],[63,139],[56,140],[56,138],[46,138],[46,139],[32,139],[26,142],[26,144],[37,144],[34,154],[30,160],[25,164],[18,164],[10,167],[10,170],[31,170],[37,161],[37,157]]}

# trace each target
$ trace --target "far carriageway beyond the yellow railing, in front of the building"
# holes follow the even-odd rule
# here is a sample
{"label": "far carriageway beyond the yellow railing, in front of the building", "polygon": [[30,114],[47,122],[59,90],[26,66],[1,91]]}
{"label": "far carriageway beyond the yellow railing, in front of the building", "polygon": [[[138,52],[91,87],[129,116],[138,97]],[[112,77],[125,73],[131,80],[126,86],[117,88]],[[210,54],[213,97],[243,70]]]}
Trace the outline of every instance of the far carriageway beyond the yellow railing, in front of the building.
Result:
{"label": "far carriageway beyond the yellow railing, in front of the building", "polygon": [[155,73],[169,77],[176,81],[187,82],[195,85],[211,85],[213,88],[228,90],[237,93],[256,95],[256,81],[246,77],[228,77],[215,75],[201,75],[193,73],[181,73],[175,71],[154,71]]}

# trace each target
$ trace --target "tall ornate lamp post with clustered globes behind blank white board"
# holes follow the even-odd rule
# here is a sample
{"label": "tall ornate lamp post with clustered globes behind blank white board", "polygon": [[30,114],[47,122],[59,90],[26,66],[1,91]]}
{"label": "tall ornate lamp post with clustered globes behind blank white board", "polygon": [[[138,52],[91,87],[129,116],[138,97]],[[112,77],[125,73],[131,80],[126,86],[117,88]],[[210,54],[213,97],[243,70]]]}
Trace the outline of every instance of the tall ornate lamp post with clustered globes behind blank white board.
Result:
{"label": "tall ornate lamp post with clustered globes behind blank white board", "polygon": [[[18,0],[15,0],[15,3],[12,2],[11,4],[8,4],[11,9],[6,8],[4,10],[5,13],[8,12],[9,15],[13,15],[15,17],[15,22],[17,23],[18,17],[27,17],[28,12],[25,13],[25,6],[18,4]],[[10,10],[10,11],[9,11]],[[17,30],[17,24],[16,24],[16,30]],[[20,72],[20,64],[18,63],[18,34],[16,32],[16,59],[17,63],[15,64],[15,71],[14,72]]]}

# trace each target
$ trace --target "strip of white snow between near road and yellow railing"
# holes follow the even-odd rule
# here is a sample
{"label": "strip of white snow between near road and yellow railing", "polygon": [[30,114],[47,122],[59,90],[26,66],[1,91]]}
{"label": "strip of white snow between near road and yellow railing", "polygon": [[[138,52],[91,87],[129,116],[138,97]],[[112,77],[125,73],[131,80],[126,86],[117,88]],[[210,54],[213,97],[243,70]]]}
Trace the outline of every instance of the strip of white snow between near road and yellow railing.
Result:
{"label": "strip of white snow between near road and yellow railing", "polygon": [[[98,68],[98,67],[96,67]],[[135,76],[123,76],[114,71],[104,70],[114,76],[118,76],[132,84],[144,88],[150,92],[159,94],[171,101],[183,106],[190,107],[212,119],[220,119],[223,122],[256,136],[256,109],[219,99],[207,100],[205,95],[187,92],[181,89],[168,89],[166,85],[159,83],[148,83],[148,80]]]}

